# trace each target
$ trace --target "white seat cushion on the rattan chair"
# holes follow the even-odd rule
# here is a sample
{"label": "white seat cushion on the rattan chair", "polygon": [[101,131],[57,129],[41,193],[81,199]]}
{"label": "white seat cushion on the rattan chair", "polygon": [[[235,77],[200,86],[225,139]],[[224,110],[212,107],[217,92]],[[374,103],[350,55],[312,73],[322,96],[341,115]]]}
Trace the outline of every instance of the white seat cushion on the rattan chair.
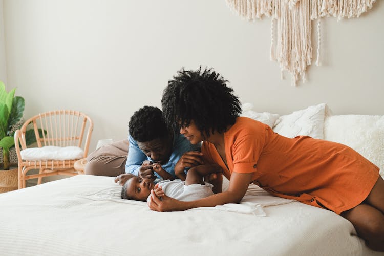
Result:
{"label": "white seat cushion on the rattan chair", "polygon": [[43,146],[26,148],[20,152],[26,161],[73,160],[83,158],[84,152],[77,146]]}

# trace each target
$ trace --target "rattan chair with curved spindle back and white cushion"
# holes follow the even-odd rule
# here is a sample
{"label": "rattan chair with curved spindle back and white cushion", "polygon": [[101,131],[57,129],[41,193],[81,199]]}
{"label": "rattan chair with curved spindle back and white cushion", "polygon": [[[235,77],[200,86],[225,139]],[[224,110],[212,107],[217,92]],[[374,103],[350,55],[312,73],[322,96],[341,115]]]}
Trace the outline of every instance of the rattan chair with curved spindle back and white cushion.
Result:
{"label": "rattan chair with curved spindle back and white cushion", "polygon": [[[26,131],[31,129],[31,125],[36,136],[36,143],[32,144],[33,147],[27,147]],[[26,180],[29,179],[38,178],[37,184],[39,185],[42,177],[77,175],[78,172],[74,168],[74,163],[78,159],[87,157],[92,131],[92,119],[79,111],[50,111],[28,119],[15,132],[14,136],[18,158],[18,188],[25,188]],[[84,136],[85,140],[83,141]],[[46,152],[52,148],[55,148],[56,151],[52,151],[44,157],[41,156],[41,151]],[[64,157],[59,156],[58,152],[62,152],[61,150],[66,151],[67,155]],[[76,157],[71,155],[71,152],[74,152],[73,150],[77,152]],[[26,157],[27,152],[38,153],[35,155],[40,159],[31,159],[30,157],[28,159]],[[39,173],[27,175],[31,169],[39,169]]]}

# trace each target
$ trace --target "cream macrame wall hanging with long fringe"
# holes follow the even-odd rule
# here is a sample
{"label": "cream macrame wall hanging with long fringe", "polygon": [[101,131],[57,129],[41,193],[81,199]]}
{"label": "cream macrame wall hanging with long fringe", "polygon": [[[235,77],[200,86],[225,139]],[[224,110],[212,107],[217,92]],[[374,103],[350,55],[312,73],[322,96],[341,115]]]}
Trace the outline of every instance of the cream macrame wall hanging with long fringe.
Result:
{"label": "cream macrame wall hanging with long fringe", "polygon": [[359,17],[376,0],[227,0],[229,7],[247,20],[271,17],[271,60],[282,72],[291,73],[292,85],[302,78],[312,62],[312,24],[317,19],[317,59],[320,63],[321,18]]}

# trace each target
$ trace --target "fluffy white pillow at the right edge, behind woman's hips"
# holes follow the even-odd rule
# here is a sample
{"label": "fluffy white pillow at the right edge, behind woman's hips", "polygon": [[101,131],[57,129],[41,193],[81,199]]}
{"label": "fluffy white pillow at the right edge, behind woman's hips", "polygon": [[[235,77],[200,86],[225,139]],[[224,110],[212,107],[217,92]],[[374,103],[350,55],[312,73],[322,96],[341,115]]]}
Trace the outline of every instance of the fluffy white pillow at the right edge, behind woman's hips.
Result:
{"label": "fluffy white pillow at the right edge, behind woman's hips", "polygon": [[384,116],[335,115],[324,123],[324,139],[352,147],[384,176]]}

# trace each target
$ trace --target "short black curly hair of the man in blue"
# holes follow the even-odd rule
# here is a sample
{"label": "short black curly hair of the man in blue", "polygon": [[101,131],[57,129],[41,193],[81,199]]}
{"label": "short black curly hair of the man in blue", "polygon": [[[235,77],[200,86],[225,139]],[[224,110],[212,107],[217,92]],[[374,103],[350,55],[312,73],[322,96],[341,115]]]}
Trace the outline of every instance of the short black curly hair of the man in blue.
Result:
{"label": "short black curly hair of the man in blue", "polygon": [[163,113],[155,106],[143,106],[143,108],[136,111],[128,126],[132,138],[139,142],[160,139],[169,135]]}

